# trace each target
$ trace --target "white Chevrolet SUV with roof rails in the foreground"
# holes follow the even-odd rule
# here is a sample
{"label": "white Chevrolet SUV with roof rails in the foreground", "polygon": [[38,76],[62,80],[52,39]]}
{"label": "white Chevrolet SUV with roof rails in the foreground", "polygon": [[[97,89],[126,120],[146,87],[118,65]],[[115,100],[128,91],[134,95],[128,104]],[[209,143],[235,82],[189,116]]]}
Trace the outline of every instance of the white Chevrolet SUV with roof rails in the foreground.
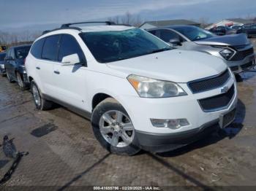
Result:
{"label": "white Chevrolet SUV with roof rails in the foreground", "polygon": [[56,102],[88,117],[99,143],[126,155],[176,149],[233,121],[236,81],[221,59],[107,24],[66,24],[34,42],[26,69],[37,109]]}

